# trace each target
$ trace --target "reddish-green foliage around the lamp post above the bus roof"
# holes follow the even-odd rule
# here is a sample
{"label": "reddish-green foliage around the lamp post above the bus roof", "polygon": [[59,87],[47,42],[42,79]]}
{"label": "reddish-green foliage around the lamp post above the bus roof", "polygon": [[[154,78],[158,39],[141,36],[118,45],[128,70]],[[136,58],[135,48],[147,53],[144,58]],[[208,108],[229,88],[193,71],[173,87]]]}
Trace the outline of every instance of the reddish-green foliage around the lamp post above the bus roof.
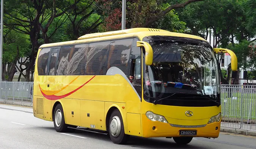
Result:
{"label": "reddish-green foliage around the lamp post above the bus roof", "polygon": [[[122,0],[98,0],[97,12],[104,16],[104,31],[121,29]],[[168,8],[170,5],[165,0],[127,0],[126,28],[136,28],[147,22]],[[179,20],[174,10],[168,12],[156,22],[147,26],[149,28],[160,28],[172,32],[184,32],[185,22]]]}

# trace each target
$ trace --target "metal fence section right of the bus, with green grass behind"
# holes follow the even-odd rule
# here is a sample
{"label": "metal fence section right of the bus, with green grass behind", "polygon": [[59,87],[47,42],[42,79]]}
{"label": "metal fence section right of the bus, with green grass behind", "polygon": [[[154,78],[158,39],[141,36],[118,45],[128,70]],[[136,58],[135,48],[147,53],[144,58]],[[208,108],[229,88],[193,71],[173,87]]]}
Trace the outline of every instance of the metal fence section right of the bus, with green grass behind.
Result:
{"label": "metal fence section right of the bus, with green grass behind", "polygon": [[256,85],[221,85],[221,127],[256,131]]}

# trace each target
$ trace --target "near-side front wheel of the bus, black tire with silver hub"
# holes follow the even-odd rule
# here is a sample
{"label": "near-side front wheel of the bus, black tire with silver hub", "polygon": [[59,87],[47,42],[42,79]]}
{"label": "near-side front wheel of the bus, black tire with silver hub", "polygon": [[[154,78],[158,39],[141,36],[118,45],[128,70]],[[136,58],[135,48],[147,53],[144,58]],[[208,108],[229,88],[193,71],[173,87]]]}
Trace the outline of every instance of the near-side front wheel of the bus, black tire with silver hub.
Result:
{"label": "near-side front wheel of the bus, black tire with silver hub", "polygon": [[115,109],[110,115],[108,134],[115,144],[126,144],[128,141],[129,135],[124,133],[123,118],[118,109]]}

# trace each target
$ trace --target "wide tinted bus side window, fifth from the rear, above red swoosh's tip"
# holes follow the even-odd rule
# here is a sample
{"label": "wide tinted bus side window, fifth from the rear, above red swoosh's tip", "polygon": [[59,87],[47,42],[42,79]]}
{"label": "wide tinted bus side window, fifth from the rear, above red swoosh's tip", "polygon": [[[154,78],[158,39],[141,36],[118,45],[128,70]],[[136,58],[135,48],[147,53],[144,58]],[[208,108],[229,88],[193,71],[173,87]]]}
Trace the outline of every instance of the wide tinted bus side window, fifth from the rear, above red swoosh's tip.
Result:
{"label": "wide tinted bus side window, fifth from the rear, above red swoosh's tip", "polygon": [[86,75],[106,75],[107,52],[110,41],[90,43],[86,55]]}

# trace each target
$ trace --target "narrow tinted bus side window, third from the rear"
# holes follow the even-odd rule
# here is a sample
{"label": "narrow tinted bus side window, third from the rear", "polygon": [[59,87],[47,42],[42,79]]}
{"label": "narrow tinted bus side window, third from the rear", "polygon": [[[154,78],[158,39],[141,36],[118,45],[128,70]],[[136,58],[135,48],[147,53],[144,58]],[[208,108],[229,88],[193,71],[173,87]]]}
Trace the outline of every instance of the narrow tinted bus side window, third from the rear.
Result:
{"label": "narrow tinted bus side window, third from the rear", "polygon": [[70,46],[61,46],[56,75],[66,75]]}

